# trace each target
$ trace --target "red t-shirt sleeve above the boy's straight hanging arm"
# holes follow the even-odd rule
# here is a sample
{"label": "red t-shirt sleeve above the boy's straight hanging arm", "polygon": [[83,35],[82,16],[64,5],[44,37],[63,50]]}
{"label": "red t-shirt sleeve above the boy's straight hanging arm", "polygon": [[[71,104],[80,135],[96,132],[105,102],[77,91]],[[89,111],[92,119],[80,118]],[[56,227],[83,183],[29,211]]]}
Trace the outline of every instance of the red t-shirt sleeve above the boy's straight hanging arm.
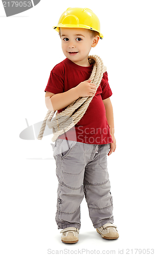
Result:
{"label": "red t-shirt sleeve above the boy's straight hanging arm", "polygon": [[102,88],[102,93],[101,93],[102,100],[107,99],[110,96],[112,96],[113,93],[109,87],[107,72],[103,73],[103,77],[102,77],[100,86]]}

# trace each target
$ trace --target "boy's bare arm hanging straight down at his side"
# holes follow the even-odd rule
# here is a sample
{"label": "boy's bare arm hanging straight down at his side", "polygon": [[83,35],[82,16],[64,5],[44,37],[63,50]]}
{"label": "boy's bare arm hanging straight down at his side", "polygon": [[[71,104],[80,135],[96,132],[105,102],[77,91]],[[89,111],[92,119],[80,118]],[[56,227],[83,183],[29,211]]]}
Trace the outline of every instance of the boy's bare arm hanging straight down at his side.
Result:
{"label": "boy's bare arm hanging straight down at his side", "polygon": [[115,152],[116,149],[116,139],[114,136],[114,114],[113,114],[113,106],[112,102],[110,101],[110,98],[104,99],[103,100],[104,106],[105,106],[105,111],[106,111],[106,119],[108,122],[108,125],[110,127],[110,135],[113,138],[113,143],[110,143],[110,151],[108,155],[110,155],[112,152]]}

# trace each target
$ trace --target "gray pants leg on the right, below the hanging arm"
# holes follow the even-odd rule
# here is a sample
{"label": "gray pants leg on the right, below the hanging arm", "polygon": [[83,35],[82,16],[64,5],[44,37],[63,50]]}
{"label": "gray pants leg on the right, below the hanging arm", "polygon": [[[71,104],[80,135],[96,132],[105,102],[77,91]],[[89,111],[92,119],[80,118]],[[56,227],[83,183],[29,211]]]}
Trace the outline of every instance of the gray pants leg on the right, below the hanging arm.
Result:
{"label": "gray pants leg on the right, below the hanging arm", "polygon": [[89,215],[95,228],[113,223],[113,198],[110,193],[110,181],[107,172],[107,154],[109,144],[96,145],[95,151],[84,173],[84,194]]}

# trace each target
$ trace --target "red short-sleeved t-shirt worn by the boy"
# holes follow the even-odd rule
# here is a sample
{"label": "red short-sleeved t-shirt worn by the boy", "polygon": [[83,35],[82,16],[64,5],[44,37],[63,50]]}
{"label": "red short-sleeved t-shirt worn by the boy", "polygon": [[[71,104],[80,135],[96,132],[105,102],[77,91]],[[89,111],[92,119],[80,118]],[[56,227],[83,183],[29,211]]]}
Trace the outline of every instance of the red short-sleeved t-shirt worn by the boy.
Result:
{"label": "red short-sleeved t-shirt worn by the boy", "polygon": [[[93,64],[89,67],[83,67],[66,58],[52,69],[45,92],[54,94],[66,92],[90,78],[92,70]],[[105,72],[83,117],[69,131],[59,135],[58,138],[88,144],[112,143],[113,139],[110,135],[102,101],[110,96],[112,96],[112,91],[108,84],[107,72]],[[58,110],[58,113],[63,110],[65,108]]]}

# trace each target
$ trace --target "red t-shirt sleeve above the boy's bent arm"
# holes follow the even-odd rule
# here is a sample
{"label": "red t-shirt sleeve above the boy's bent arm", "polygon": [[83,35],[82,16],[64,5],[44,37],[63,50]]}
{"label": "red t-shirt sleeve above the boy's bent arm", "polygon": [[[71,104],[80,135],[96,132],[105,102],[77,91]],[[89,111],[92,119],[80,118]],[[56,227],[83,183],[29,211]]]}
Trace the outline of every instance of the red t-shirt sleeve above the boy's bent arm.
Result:
{"label": "red t-shirt sleeve above the boy's bent arm", "polygon": [[58,74],[55,74],[54,70],[51,71],[49,81],[47,84],[47,87],[45,89],[45,92],[48,91],[50,93],[63,93],[64,92],[64,82],[63,77],[61,77]]}

